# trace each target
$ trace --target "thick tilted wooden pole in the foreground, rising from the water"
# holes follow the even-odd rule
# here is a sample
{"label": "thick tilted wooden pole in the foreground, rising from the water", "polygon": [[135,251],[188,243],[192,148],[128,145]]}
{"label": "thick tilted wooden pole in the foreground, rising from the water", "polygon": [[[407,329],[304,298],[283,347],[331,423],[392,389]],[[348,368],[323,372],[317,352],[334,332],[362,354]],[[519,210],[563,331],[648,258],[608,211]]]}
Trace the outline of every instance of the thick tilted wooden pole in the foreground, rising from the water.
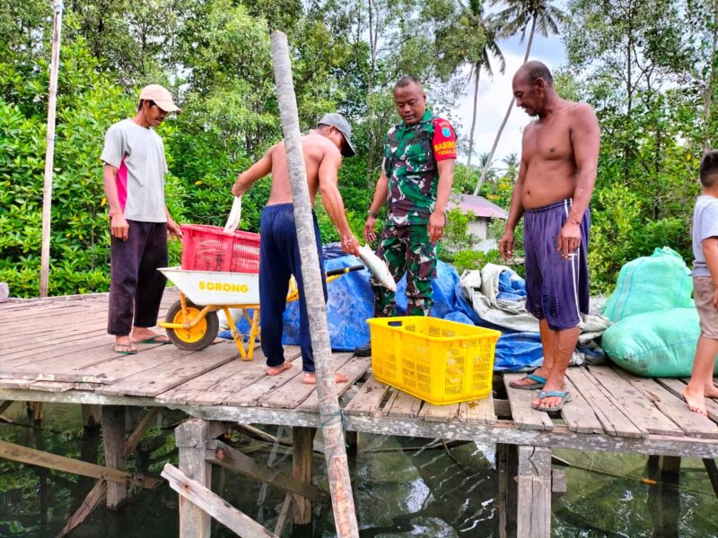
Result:
{"label": "thick tilted wooden pole in the foreground, rising from the water", "polygon": [[304,169],[299,115],[292,82],[292,65],[289,60],[286,36],[281,31],[272,32],[272,60],[282,132],[285,135],[289,179],[292,183],[294,221],[302,260],[302,277],[307,313],[309,314],[311,346],[314,350],[314,362],[317,365],[317,394],[320,400],[321,430],[324,437],[334,522],[339,538],[354,538],[359,536],[359,530],[356,524],[352,483],[349,480],[349,466],[346,461],[341,408],[337,400],[334,369],[331,367],[327,313],[321,287],[320,260],[314,237],[309,187],[307,187],[307,176]]}

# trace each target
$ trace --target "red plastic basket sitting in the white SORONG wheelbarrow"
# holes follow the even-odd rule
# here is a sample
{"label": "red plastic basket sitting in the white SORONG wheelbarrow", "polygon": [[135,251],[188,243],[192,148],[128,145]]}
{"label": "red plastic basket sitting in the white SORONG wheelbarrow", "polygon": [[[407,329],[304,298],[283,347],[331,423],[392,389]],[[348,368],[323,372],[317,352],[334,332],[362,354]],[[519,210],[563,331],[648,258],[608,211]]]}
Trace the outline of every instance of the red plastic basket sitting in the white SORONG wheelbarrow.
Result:
{"label": "red plastic basket sitting in the white SORONG wheelbarrow", "polygon": [[182,269],[259,273],[259,234],[182,224]]}

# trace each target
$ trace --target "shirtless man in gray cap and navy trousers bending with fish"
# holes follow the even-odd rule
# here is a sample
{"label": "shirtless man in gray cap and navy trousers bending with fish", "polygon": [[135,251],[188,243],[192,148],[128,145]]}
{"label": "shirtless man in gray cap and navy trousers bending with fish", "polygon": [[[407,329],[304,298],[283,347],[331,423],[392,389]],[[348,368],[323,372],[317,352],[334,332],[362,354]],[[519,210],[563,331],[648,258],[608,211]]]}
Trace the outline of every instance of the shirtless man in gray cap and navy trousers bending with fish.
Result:
{"label": "shirtless man in gray cap and navy trousers bending with fish", "polygon": [[[341,114],[332,113],[322,117],[317,128],[302,136],[302,152],[307,170],[307,184],[311,204],[321,193],[321,203],[342,238],[342,249],[351,254],[359,252],[349,223],[346,221],[344,201],[337,187],[338,170],[342,156],[355,154],[352,146],[352,127]],[[242,172],[232,187],[232,194],[243,195],[260,178],[271,174],[272,190],[267,207],[262,211],[259,224],[261,244],[259,250],[259,302],[262,305],[261,336],[262,351],[267,357],[267,374],[276,376],[292,367],[285,362],[282,347],[286,294],[289,290],[291,275],[299,288],[299,325],[302,348],[302,368],[304,383],[316,383],[314,374],[314,355],[311,349],[309,317],[304,299],[302,264],[299,256],[297,232],[294,226],[292,186],[289,182],[285,143],[273,145],[264,156],[250,169]],[[320,229],[317,216],[314,215],[314,235],[317,238],[317,252],[320,257],[321,273],[324,274],[324,262],[321,254]],[[323,280],[323,279],[322,279]],[[324,299],[327,299],[327,286],[324,287]],[[337,383],[346,381],[344,374],[336,374]]]}

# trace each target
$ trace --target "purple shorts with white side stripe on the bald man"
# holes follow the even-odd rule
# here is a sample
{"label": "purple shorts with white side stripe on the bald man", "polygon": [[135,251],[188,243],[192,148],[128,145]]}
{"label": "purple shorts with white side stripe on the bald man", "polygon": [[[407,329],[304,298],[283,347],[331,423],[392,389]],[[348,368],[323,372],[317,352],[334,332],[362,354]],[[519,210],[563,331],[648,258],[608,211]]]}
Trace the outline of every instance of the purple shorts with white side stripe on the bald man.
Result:
{"label": "purple shorts with white side stripe on the bald man", "polygon": [[573,200],[527,209],[524,212],[523,247],[526,252],[526,309],[546,319],[555,331],[579,325],[581,313],[589,311],[589,266],[587,261],[591,215],[583,214],[581,246],[564,259],[557,239]]}

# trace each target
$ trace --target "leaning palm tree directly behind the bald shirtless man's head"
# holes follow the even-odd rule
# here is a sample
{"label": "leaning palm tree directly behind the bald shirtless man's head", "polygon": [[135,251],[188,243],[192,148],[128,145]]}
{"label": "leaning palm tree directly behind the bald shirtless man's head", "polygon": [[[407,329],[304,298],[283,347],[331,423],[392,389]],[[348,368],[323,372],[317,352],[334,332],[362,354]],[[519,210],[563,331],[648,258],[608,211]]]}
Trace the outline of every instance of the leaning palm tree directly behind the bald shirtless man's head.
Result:
{"label": "leaning palm tree directly behind the bald shirtless man's head", "polygon": [[[523,39],[526,38],[526,30],[528,30],[530,26],[529,42],[526,44],[526,54],[523,56],[524,64],[529,61],[531,45],[533,44],[533,37],[536,34],[536,30],[544,37],[548,37],[549,32],[557,34],[559,33],[559,23],[564,22],[566,18],[566,14],[555,5],[549,4],[548,0],[492,0],[493,5],[500,4],[501,2],[508,4],[503,11],[496,13],[496,19],[502,28],[502,37],[510,37],[521,31],[521,42],[523,42]],[[496,146],[501,139],[503,127],[506,126],[506,122],[509,120],[512,108],[513,97],[503,117],[503,122],[501,122],[498,133],[496,133],[494,145],[491,146],[489,162],[494,157]],[[483,169],[481,171],[481,177],[478,178],[477,187],[474,189],[475,195],[485,179],[486,169]]]}

